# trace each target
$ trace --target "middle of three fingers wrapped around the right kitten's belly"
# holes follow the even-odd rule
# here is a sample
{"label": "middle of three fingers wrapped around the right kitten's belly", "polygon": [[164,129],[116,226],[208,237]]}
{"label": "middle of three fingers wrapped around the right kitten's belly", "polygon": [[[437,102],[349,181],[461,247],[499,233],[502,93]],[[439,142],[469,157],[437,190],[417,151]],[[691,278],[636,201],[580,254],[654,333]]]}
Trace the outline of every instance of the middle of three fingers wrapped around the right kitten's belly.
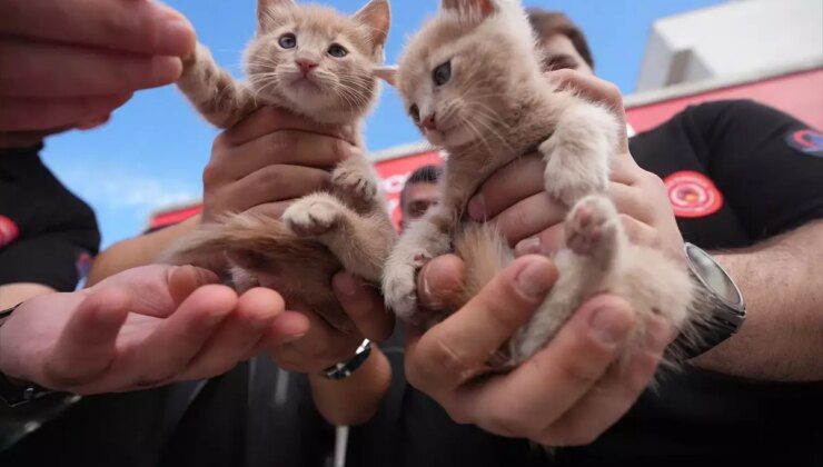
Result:
{"label": "middle of three fingers wrapped around the right kitten's belly", "polygon": [[518,241],[562,222],[567,210],[568,208],[542,191],[504,210],[492,223],[506,237],[509,245],[517,245]]}

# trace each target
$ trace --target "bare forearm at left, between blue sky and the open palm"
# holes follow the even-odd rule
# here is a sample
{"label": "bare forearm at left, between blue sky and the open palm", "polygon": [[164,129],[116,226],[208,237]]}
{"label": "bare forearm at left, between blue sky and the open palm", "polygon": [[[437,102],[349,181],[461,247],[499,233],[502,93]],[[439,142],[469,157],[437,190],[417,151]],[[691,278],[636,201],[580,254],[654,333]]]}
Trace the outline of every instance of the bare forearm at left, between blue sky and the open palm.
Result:
{"label": "bare forearm at left, between blue sky and the open palm", "polygon": [[120,241],[107,248],[95,259],[86,287],[126,269],[146,266],[157,258],[178,238],[191,231],[200,222],[200,215],[152,234]]}

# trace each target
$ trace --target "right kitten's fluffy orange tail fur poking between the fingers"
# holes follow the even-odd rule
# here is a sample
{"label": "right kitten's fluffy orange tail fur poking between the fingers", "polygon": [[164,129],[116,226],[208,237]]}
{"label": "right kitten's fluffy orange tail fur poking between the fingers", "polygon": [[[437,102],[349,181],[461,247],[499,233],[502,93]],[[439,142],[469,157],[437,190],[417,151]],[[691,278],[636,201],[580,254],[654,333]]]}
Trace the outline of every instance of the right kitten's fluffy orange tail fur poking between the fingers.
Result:
{"label": "right kitten's fluffy orange tail fur poking between the fingers", "polygon": [[476,296],[492,278],[514,260],[503,235],[489,223],[469,223],[455,239],[456,254],[465,262],[459,302]]}

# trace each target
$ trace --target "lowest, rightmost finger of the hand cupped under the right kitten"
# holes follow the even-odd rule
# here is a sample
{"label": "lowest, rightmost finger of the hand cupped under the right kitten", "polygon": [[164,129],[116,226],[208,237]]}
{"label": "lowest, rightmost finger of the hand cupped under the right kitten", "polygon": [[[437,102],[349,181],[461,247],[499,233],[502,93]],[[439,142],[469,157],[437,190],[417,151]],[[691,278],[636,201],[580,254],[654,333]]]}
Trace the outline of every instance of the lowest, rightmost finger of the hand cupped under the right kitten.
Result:
{"label": "lowest, rightmost finger of the hand cupped under the right kitten", "polygon": [[536,440],[549,446],[587,445],[628,411],[648,387],[672,327],[653,318],[648,338],[626,365],[613,365],[603,379]]}

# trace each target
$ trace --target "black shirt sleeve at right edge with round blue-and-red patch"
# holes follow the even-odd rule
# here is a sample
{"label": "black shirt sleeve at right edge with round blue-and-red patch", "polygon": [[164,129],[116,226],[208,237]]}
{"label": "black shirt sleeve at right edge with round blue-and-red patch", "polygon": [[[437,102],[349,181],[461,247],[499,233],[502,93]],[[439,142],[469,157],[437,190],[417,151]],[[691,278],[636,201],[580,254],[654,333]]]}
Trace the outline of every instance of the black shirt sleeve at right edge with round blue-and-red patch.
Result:
{"label": "black shirt sleeve at right edge with round blue-and-red patch", "polygon": [[823,218],[820,131],[748,100],[704,103],[686,118],[705,143],[704,167],[752,240]]}

